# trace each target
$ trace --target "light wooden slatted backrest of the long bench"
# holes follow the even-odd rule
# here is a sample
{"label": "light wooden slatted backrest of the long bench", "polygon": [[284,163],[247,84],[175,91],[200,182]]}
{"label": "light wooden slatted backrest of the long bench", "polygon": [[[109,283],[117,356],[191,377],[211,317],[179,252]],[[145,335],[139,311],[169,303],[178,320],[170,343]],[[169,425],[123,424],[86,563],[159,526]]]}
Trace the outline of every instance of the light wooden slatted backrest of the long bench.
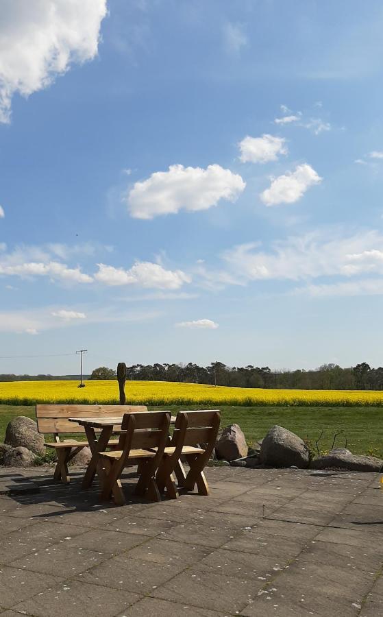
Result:
{"label": "light wooden slatted backrest of the long bench", "polygon": [[145,405],[36,405],[39,433],[84,433],[84,426],[68,418],[122,418],[125,413],[145,412]]}

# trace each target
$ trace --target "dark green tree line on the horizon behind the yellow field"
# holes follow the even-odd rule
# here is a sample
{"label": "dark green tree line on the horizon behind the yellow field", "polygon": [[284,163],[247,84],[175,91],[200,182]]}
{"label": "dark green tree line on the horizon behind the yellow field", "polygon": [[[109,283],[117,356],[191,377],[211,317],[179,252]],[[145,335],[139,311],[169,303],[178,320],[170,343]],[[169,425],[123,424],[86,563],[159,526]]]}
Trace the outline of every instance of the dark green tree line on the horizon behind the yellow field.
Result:
{"label": "dark green tree line on the horizon behind the yellow field", "polygon": [[[99,367],[91,379],[113,379],[116,372]],[[208,366],[188,364],[133,364],[127,366],[127,380],[178,381],[242,388],[281,388],[312,390],[382,390],[383,367],[371,368],[366,362],[342,368],[337,364],[323,364],[314,370],[278,370],[247,365],[230,367],[222,362]]]}

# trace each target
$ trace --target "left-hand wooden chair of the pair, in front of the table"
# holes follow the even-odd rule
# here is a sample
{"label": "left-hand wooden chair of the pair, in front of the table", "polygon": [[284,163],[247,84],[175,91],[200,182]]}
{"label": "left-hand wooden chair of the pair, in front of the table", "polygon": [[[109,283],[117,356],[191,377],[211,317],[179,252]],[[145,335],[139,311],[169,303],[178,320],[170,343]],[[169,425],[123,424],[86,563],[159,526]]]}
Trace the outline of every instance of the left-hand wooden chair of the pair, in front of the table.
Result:
{"label": "left-hand wooden chair of the pair, in front of the table", "polygon": [[121,426],[126,431],[125,435],[121,435],[123,450],[100,452],[105,472],[101,489],[102,500],[109,499],[112,494],[117,505],[125,504],[121,474],[125,467],[136,463],[140,474],[136,495],[145,496],[151,501],[161,500],[156,472],[169,439],[170,420],[171,414],[166,411],[124,415]]}

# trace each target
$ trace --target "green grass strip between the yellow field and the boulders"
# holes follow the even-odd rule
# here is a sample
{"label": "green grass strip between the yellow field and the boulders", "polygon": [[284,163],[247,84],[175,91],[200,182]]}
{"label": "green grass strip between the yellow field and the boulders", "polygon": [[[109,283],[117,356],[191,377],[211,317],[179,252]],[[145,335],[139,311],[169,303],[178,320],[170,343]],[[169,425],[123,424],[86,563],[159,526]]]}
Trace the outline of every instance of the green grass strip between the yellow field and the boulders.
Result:
{"label": "green grass strip between the yellow field and the boulders", "polygon": [[[164,407],[149,407],[164,409]],[[168,407],[172,413],[196,407]],[[198,408],[197,408],[198,409]],[[236,422],[251,445],[261,439],[273,424],[280,424],[302,439],[314,442],[323,429],[319,446],[321,452],[330,450],[334,433],[343,430],[336,446],[355,454],[372,454],[383,458],[383,409],[381,407],[225,407],[221,406],[221,426]],[[5,427],[16,415],[34,418],[34,407],[0,405],[0,441]]]}

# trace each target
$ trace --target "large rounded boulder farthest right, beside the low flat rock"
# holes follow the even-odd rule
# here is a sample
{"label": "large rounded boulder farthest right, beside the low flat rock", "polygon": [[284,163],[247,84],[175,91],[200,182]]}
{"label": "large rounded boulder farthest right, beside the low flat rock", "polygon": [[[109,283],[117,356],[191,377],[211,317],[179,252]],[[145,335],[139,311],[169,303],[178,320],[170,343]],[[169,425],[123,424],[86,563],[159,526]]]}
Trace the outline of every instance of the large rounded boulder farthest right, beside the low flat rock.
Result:
{"label": "large rounded boulder farthest right, beside the low flat rock", "polygon": [[260,459],[269,467],[308,467],[309,455],[305,442],[282,426],[272,426],[262,440]]}

